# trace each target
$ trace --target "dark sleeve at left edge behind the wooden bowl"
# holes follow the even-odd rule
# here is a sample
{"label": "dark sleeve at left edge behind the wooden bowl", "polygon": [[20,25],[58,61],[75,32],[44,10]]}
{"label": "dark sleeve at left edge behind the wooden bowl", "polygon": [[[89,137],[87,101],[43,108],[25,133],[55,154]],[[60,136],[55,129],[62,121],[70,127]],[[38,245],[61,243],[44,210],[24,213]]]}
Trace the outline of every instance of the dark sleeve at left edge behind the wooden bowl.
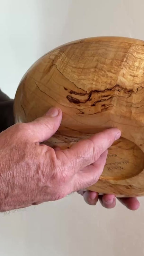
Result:
{"label": "dark sleeve at left edge behind the wooden bowl", "polygon": [[0,89],[0,132],[14,124],[14,100]]}

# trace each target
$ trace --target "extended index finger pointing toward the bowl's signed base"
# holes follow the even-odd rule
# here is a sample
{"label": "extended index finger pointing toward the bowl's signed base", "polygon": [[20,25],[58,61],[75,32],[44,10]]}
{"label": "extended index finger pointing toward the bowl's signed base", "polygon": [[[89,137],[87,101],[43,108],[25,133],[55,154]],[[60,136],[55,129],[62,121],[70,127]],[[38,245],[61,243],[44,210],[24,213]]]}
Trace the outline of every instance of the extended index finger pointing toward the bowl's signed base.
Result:
{"label": "extended index finger pointing toward the bowl's signed base", "polygon": [[107,129],[89,139],[77,142],[70,149],[63,150],[63,153],[72,168],[80,170],[96,162],[100,155],[120,138],[120,135],[120,130],[116,128]]}

